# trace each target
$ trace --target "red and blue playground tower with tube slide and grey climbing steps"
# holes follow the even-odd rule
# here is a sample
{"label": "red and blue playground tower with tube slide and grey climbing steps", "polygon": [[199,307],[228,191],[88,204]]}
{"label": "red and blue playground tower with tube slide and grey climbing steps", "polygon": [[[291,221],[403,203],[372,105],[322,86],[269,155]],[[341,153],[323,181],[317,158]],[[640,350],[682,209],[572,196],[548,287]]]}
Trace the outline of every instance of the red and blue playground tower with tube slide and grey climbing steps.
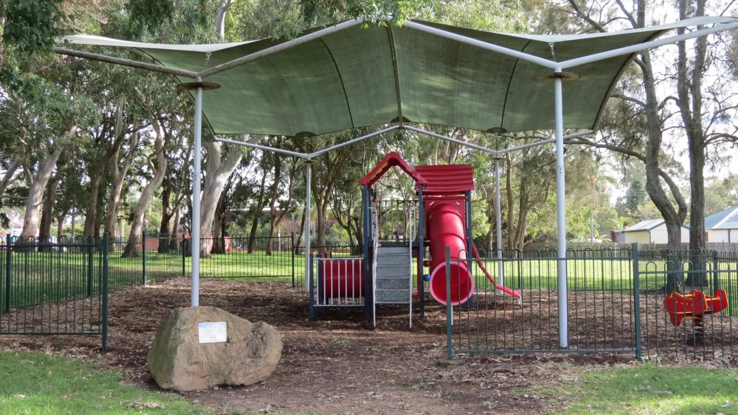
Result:
{"label": "red and blue playground tower with tube slide and grey climbing steps", "polygon": [[[400,168],[413,179],[416,201],[401,201],[400,205],[392,203],[397,201],[376,200],[373,185],[393,167]],[[418,165],[413,168],[392,152],[359,180],[359,185],[362,186],[364,213],[364,255],[314,258],[317,284],[313,284],[314,275],[309,275],[311,317],[314,309],[320,307],[364,306],[365,315],[373,315],[376,324],[376,304],[407,304],[412,326],[413,299],[419,300],[420,316],[424,317],[426,282],[432,298],[446,304],[446,247],[450,249],[452,260],[466,259],[468,253],[472,253],[494,287],[520,303],[520,292],[495,283],[472,243],[472,165]],[[391,218],[401,218],[399,229],[392,235],[382,235],[386,226],[380,227],[380,223],[387,224]],[[430,255],[427,260],[424,259],[426,247]],[[472,266],[472,261],[450,264],[450,298],[454,306],[472,298],[475,282],[469,270]],[[425,272],[425,267],[429,267],[429,273]]]}

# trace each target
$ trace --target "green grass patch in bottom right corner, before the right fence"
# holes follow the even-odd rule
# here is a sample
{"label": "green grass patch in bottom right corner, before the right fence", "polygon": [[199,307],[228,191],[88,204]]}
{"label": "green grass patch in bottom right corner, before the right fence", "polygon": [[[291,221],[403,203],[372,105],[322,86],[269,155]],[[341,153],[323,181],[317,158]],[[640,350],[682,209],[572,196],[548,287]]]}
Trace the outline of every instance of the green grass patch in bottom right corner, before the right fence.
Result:
{"label": "green grass patch in bottom right corner, before the right fence", "polygon": [[738,371],[643,363],[627,368],[563,368],[573,371],[559,387],[534,393],[561,407],[554,414],[738,414]]}

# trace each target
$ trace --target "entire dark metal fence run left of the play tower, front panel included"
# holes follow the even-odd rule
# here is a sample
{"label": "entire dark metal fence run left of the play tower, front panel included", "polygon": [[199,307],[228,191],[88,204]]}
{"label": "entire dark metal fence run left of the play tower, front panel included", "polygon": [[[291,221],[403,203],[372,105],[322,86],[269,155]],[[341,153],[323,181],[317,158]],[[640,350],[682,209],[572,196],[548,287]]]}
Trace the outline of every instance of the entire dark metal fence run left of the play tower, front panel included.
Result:
{"label": "entire dark metal fence run left of the play tower, front panel included", "polygon": [[[204,278],[302,278],[294,237],[201,240]],[[221,244],[221,251],[213,244]],[[348,255],[348,246],[313,247]],[[191,243],[175,236],[70,239],[0,237],[0,335],[101,335],[107,349],[108,293],[187,275]]]}

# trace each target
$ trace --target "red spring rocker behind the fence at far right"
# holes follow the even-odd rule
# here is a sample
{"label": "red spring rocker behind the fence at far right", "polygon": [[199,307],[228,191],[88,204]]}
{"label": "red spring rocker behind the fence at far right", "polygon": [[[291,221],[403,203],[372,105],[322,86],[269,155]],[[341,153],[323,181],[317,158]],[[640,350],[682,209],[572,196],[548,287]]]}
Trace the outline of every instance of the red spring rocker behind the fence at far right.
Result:
{"label": "red spring rocker behind the fence at far right", "polygon": [[680,326],[685,318],[694,320],[694,326],[701,327],[704,315],[715,314],[728,308],[728,295],[725,289],[716,289],[715,295],[693,289],[686,295],[677,292],[663,300],[663,308],[669,313],[672,326]]}

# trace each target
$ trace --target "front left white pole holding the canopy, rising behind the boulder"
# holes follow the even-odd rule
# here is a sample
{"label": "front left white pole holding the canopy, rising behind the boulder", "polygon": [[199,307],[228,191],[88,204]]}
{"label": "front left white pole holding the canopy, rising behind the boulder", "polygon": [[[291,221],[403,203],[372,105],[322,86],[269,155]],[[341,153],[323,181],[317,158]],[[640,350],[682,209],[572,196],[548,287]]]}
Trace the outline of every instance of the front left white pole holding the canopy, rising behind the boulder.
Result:
{"label": "front left white pole holding the canopy, rising behind the boulder", "polygon": [[190,306],[200,305],[200,182],[202,152],[202,87],[195,92],[195,143],[192,180],[192,283],[190,287]]}

